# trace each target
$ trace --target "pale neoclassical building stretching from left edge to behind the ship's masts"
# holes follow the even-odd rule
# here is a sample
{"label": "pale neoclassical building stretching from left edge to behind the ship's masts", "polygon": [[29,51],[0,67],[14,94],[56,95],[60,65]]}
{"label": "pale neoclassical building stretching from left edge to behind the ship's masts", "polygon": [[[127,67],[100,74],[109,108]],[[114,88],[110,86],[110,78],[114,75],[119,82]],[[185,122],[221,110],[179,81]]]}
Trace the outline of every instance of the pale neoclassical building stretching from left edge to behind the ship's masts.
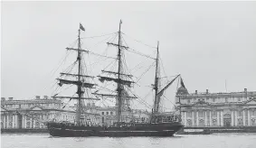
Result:
{"label": "pale neoclassical building stretching from left edge to behind the ship's masts", "polygon": [[[44,123],[52,120],[73,123],[76,105],[62,108],[63,106],[61,100],[47,96],[21,100],[2,97],[1,129],[45,129]],[[83,110],[82,118],[85,125],[112,125],[117,122],[114,106],[102,107],[88,103]],[[130,115],[125,118],[127,122],[132,119],[142,123],[149,120],[147,111],[131,110]]]}

